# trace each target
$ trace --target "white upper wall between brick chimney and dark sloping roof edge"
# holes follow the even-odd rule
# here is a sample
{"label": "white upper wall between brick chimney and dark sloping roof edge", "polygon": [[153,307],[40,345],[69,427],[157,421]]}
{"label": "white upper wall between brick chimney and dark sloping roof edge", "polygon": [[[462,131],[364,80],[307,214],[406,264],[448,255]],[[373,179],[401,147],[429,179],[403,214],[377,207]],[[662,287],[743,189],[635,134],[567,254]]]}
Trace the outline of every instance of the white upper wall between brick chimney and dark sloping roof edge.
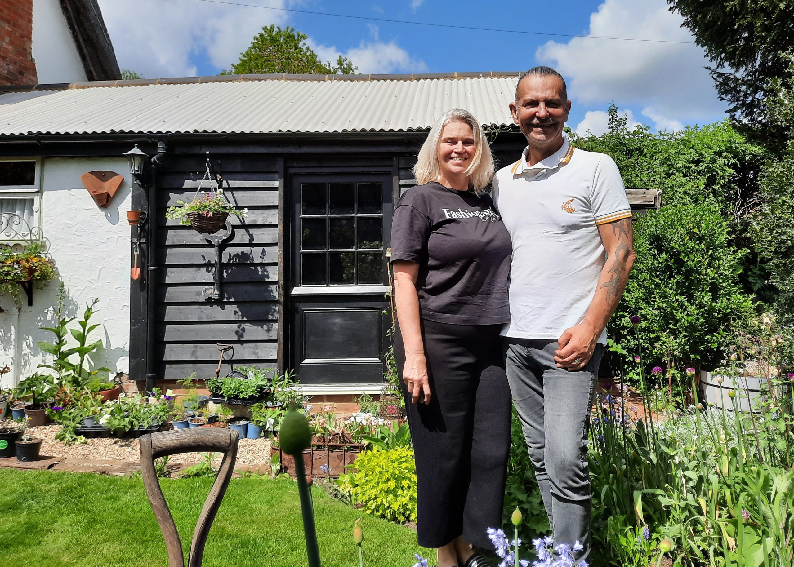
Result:
{"label": "white upper wall between brick chimney and dark sloping roof edge", "polygon": [[31,47],[39,84],[87,80],[60,0],[33,0]]}

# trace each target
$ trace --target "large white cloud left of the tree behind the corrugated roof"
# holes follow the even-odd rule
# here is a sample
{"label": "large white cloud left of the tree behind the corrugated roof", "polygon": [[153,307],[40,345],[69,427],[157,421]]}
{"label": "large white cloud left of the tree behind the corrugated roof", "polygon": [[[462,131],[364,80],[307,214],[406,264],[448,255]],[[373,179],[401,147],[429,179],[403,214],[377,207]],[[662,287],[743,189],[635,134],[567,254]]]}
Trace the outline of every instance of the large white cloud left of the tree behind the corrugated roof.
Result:
{"label": "large white cloud left of the tree behind the corrugated roof", "polygon": [[[259,0],[282,8],[286,0]],[[196,74],[191,54],[206,52],[228,69],[264,25],[284,25],[286,12],[195,0],[99,0],[119,67],[147,78]]]}

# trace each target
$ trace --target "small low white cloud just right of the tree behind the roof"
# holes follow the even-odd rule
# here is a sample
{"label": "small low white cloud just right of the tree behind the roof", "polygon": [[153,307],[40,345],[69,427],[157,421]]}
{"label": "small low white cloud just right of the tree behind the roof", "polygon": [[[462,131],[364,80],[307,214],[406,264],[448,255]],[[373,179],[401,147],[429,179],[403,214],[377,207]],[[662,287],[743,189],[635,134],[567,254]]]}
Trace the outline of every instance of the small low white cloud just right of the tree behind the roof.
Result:
{"label": "small low white cloud just right of the tree behind the roof", "polygon": [[414,60],[410,54],[401,48],[394,40],[389,43],[383,41],[364,41],[358,47],[349,48],[342,53],[336,47],[317,45],[307,40],[311,48],[317,52],[320,60],[335,63],[338,56],[345,56],[353,61],[359,73],[394,73],[405,71],[422,73],[427,71],[427,65],[422,60]]}

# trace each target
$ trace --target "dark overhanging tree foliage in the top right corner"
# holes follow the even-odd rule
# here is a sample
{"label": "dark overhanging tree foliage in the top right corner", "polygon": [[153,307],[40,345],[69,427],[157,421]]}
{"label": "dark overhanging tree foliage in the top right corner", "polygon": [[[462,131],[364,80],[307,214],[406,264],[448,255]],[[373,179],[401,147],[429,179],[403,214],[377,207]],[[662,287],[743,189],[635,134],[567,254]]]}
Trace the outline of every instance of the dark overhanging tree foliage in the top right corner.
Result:
{"label": "dark overhanging tree foliage in the top right corner", "polygon": [[770,116],[775,79],[790,75],[786,53],[794,50],[791,0],[668,0],[684,16],[696,44],[714,63],[711,77],[730,116],[774,151],[785,129]]}

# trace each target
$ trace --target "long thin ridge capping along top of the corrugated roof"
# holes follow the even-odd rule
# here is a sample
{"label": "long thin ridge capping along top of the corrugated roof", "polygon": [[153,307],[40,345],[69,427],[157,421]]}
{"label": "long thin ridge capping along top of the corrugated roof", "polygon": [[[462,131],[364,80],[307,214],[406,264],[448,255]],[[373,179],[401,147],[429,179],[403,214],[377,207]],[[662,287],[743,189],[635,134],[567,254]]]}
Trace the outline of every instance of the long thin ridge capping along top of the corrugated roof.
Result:
{"label": "long thin ridge capping along top of the corrugated roof", "polygon": [[252,81],[418,81],[425,79],[495,79],[517,77],[520,71],[467,71],[452,73],[359,74],[359,75],[299,75],[268,73],[260,75],[209,75],[201,77],[162,77],[159,79],[131,79],[114,81],[82,81],[79,83],[51,83],[37,85],[0,85],[2,91],[64,91],[93,87],[141,87],[148,85],[174,85],[191,83],[245,83]]}

